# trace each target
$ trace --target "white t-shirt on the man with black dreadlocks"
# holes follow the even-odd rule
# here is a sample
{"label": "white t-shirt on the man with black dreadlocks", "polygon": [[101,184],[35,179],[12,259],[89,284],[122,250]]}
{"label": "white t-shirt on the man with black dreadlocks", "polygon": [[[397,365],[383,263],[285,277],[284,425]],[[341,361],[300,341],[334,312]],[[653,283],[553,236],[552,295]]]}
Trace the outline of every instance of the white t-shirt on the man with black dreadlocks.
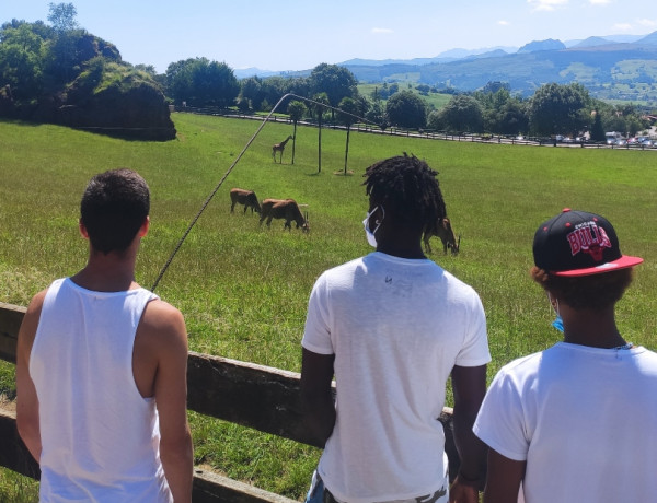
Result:
{"label": "white t-shirt on the man with black dreadlocks", "polygon": [[474,290],[428,259],[379,252],[324,272],[303,348],[335,354],[337,420],[319,464],[342,501],[448,489],[438,417],[454,365],[491,360]]}

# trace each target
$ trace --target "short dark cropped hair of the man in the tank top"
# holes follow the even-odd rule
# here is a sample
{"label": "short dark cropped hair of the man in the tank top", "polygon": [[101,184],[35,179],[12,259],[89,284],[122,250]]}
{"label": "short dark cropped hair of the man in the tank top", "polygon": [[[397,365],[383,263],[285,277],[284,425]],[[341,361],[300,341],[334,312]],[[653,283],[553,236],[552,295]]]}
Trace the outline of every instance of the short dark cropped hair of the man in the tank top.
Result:
{"label": "short dark cropped hair of the man in the tank top", "polygon": [[95,250],[125,252],[150,211],[146,180],[127,168],[95,175],[80,202],[80,220]]}

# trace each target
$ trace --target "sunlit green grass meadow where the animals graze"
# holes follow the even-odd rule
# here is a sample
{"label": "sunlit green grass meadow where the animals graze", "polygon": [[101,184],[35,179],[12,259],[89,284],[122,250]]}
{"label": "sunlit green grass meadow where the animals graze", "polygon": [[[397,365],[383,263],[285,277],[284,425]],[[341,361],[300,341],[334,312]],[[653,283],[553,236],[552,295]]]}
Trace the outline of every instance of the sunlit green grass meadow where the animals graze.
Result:
{"label": "sunlit green grass meadow where the animals graze", "polygon": [[[79,200],[102,171],[137,169],[151,188],[151,231],[137,281],[151,288],[181,236],[228,173],[258,121],[173,114],[177,139],[124,141],[48,125],[0,121],[0,302],[26,306],[58,277],[83,267]],[[216,191],[160,281],[155,293],[176,305],[194,351],[300,371],[308,296],[326,268],[367,254],[362,173],[407,152],[439,172],[461,253],[430,256],[472,284],[487,315],[493,362],[488,378],[514,358],[560,339],[545,294],[532,283],[531,243],[538,225],[564,207],[601,213],[623,253],[645,258],[618,306],[627,340],[657,349],[657,152],[459,143],[389,134],[350,134],[299,127],[283,164],[272,144],[292,126],[267,124]],[[293,198],[309,213],[302,234],[281,221],[267,229],[256,214],[230,213],[229,190]],[[13,398],[14,369],[0,364],[0,394]],[[449,398],[448,398],[449,400]],[[448,406],[450,403],[447,403]],[[191,413],[196,464],[301,499],[320,452],[231,423]],[[35,484],[0,471],[0,501],[35,501]],[[18,495],[16,495],[18,493]],[[22,500],[21,500],[22,498]]]}

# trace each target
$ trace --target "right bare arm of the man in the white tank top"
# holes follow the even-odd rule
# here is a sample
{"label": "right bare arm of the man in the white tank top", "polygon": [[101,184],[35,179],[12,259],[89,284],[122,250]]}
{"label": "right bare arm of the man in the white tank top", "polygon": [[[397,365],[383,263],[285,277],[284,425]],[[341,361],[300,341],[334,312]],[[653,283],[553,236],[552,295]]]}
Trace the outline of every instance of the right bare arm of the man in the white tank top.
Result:
{"label": "right bare arm of the man in the white tank top", "polygon": [[[147,307],[157,318],[154,397],[160,417],[160,458],[175,503],[192,501],[194,455],[187,422],[187,331],[182,314],[166,303]],[[152,302],[150,304],[153,304]]]}

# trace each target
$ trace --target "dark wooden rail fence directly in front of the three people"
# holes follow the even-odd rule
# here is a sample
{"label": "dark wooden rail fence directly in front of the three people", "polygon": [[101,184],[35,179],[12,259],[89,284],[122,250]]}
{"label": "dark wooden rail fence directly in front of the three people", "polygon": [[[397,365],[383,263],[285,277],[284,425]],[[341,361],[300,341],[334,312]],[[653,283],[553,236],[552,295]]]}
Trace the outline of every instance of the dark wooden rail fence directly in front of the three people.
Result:
{"label": "dark wooden rail fence directly in front of the three people", "polygon": [[[11,363],[15,363],[16,336],[24,314],[24,307],[0,302],[0,359]],[[315,445],[301,414],[298,373],[192,351],[187,365],[189,410]],[[450,473],[456,473],[459,457],[453,443],[451,409],[446,408],[439,420],[445,428]],[[38,465],[18,434],[15,414],[2,409],[0,466],[37,480],[41,475]],[[291,503],[293,500],[219,473],[195,469],[193,501]]]}

